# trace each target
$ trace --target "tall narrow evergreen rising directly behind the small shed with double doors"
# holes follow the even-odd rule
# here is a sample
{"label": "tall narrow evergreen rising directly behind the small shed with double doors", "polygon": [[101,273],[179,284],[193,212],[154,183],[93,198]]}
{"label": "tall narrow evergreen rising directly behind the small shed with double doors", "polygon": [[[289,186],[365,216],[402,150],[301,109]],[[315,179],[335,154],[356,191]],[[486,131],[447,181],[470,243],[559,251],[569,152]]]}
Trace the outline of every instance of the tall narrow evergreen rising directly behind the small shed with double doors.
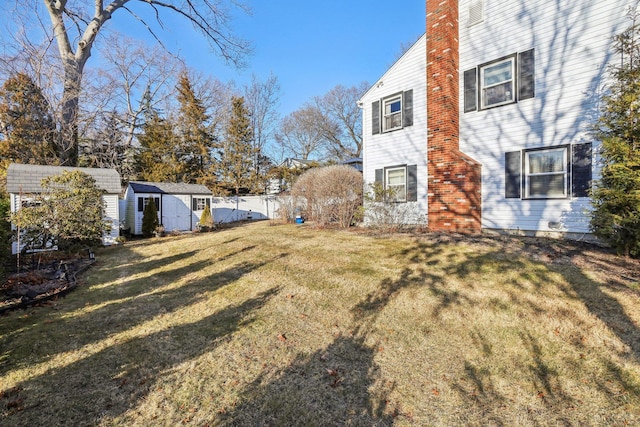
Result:
{"label": "tall narrow evergreen rising directly behind the small shed with double doors", "polygon": [[178,118],[179,157],[184,167],[184,182],[195,183],[208,174],[212,166],[215,138],[208,126],[209,117],[202,100],[186,74],[177,86],[180,114]]}

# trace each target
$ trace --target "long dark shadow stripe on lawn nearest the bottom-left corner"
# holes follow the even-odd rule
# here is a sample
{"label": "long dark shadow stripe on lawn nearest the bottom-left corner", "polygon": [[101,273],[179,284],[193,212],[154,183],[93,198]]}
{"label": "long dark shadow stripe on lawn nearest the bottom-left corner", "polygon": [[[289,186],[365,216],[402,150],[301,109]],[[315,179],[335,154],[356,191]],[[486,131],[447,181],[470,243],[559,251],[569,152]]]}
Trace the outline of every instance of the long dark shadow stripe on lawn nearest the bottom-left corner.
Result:
{"label": "long dark shadow stripe on lawn nearest the bottom-left corner", "polygon": [[267,290],[197,322],[119,342],[50,370],[5,392],[0,402],[6,412],[0,414],[11,425],[90,425],[118,417],[139,405],[174,367],[251,324],[252,313],[278,292]]}

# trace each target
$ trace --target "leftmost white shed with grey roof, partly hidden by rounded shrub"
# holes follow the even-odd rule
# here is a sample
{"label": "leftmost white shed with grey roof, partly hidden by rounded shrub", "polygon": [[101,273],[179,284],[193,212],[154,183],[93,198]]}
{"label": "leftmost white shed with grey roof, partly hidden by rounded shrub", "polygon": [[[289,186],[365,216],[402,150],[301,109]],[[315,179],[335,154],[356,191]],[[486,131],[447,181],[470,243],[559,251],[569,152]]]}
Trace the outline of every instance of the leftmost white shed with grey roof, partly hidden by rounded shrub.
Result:
{"label": "leftmost white shed with grey roof, partly hidden by rounded shrub", "polygon": [[[63,166],[40,166],[12,163],[7,169],[7,192],[11,201],[11,212],[16,212],[23,203],[30,201],[34,195],[42,192],[42,180],[63,171],[81,171],[91,175],[96,185],[105,191],[102,200],[105,204],[105,219],[111,221],[111,231],[102,238],[104,245],[111,245],[119,235],[120,209],[118,197],[122,191],[120,174],[115,169],[72,168]],[[18,251],[17,243],[12,252]]]}

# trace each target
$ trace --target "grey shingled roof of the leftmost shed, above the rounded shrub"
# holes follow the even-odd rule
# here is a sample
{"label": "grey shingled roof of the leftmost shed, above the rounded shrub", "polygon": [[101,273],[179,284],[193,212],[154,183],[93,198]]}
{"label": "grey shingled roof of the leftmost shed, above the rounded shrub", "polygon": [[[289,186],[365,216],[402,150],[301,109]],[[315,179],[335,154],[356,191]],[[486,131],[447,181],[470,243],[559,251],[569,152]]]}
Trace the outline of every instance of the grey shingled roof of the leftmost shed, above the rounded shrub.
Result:
{"label": "grey shingled roof of the leftmost shed, above the rounded shrub", "polygon": [[108,194],[120,194],[120,174],[115,169],[73,168],[67,166],[25,165],[12,163],[7,169],[7,192],[40,193],[42,180],[50,176],[60,175],[63,171],[81,171],[96,180],[98,188]]}

